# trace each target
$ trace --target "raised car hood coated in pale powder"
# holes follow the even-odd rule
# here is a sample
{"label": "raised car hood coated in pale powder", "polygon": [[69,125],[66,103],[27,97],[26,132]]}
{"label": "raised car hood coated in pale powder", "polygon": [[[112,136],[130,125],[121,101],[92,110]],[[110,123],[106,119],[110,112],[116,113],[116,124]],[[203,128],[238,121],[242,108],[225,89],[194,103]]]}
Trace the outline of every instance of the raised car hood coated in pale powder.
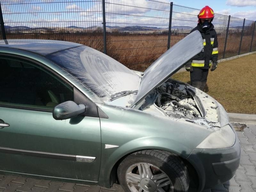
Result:
{"label": "raised car hood coated in pale powder", "polygon": [[137,96],[130,107],[140,104],[152,90],[164,83],[203,48],[203,39],[197,30],[173,45],[145,70]]}

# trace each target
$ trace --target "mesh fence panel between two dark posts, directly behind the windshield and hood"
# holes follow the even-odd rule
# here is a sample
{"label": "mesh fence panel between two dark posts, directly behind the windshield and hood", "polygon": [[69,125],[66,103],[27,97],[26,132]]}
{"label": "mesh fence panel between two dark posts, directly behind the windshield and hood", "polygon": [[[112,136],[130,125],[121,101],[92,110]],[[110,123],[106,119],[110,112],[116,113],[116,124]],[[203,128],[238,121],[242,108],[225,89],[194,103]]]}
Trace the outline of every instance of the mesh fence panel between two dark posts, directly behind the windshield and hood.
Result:
{"label": "mesh fence panel between two dark posts, directly behind the windshield and hood", "polygon": [[167,50],[170,3],[105,2],[107,54],[129,68],[146,69]]}

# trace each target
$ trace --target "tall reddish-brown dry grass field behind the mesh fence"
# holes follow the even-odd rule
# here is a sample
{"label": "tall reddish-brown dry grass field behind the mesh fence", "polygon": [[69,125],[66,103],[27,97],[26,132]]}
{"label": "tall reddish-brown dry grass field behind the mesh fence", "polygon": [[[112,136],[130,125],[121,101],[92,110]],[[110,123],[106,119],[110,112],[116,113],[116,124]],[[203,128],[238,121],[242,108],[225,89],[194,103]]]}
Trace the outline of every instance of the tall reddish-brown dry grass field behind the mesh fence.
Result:
{"label": "tall reddish-brown dry grass field behind the mesh fence", "polygon": [[[171,36],[171,46],[176,44],[185,34]],[[102,33],[51,33],[51,34],[7,34],[7,39],[52,39],[84,44],[103,51]],[[241,54],[249,52],[251,36],[244,36]],[[130,69],[144,71],[167,50],[166,34],[111,34],[107,33],[107,54]],[[256,38],[255,38],[256,39]],[[225,36],[218,37],[219,59],[222,59]],[[240,34],[230,34],[226,48],[226,57],[238,54]],[[256,47],[256,40],[253,41]],[[182,54],[182,53],[180,53]]]}

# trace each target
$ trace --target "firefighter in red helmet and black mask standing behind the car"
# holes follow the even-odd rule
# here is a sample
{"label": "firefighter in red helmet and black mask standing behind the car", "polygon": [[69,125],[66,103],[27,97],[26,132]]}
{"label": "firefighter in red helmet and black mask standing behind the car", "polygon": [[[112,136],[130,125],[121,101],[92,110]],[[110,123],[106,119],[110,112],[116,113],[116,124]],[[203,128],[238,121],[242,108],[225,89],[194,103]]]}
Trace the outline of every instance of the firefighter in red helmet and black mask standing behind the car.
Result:
{"label": "firefighter in red helmet and black mask standing behind the car", "polygon": [[216,31],[213,29],[212,20],[214,12],[209,6],[205,6],[197,15],[198,24],[191,30],[192,33],[198,30],[203,38],[204,48],[195,55],[185,68],[190,71],[191,85],[204,91],[206,85],[209,68],[214,71],[218,64],[218,41]]}

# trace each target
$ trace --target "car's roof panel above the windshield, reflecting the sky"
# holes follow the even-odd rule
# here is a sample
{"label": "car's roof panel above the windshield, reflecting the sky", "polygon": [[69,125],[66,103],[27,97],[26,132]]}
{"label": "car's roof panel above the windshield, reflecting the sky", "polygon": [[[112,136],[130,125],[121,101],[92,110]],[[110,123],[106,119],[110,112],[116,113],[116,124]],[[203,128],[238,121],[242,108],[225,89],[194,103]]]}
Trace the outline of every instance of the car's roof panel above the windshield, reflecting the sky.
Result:
{"label": "car's roof panel above the windshield, reflecting the sky", "polygon": [[43,40],[43,39],[4,39],[0,40],[0,47],[21,49],[30,52],[35,52],[41,55],[48,55],[54,52],[59,52],[64,49],[70,49],[72,47],[83,46],[82,44],[67,42],[67,41],[55,41],[55,40]]}

